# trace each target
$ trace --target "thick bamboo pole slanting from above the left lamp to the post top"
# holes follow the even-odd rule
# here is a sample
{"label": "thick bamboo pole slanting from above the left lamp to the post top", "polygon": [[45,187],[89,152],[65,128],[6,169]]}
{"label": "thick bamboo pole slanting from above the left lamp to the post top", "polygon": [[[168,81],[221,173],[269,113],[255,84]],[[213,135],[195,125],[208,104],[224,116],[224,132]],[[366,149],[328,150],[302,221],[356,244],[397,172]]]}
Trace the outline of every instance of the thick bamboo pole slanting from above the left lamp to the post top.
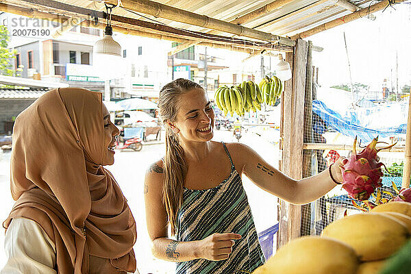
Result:
{"label": "thick bamboo pole slanting from above the left lamp to the post top", "polygon": [[[116,4],[117,0],[109,0],[106,2]],[[248,27],[242,27],[240,25],[221,21],[206,15],[188,12],[187,10],[171,7],[170,5],[164,5],[150,0],[122,0],[121,2],[123,4],[123,8],[133,10],[134,12],[142,12],[158,18],[165,18],[176,22],[186,23],[188,25],[197,25],[199,27],[215,29],[220,32],[236,34],[237,36],[244,36],[269,42],[278,41],[279,45],[295,47],[295,40],[269,34],[267,32],[260,32]]]}

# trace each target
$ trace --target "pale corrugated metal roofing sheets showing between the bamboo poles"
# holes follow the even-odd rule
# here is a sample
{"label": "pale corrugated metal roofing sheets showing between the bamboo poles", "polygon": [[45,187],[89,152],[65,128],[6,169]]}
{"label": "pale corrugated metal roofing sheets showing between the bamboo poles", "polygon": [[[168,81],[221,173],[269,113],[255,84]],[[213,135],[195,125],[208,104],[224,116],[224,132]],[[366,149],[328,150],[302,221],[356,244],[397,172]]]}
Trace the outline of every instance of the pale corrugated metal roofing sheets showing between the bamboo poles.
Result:
{"label": "pale corrugated metal roofing sheets showing between the bamboo poles", "polygon": [[[30,5],[27,1],[17,0]],[[60,3],[76,5],[92,10],[105,11],[103,1],[90,0],[55,0]],[[197,14],[203,14],[212,18],[220,19],[226,22],[232,21],[235,18],[249,14],[264,7],[264,5],[275,2],[274,0],[154,0],[158,3],[171,5],[175,8],[188,10]],[[279,1],[279,0],[277,0]],[[3,1],[7,3],[8,1]],[[91,3],[90,3],[91,2]],[[369,5],[377,3],[370,0],[350,0],[350,3],[358,5],[360,8],[367,8]],[[121,3],[121,2],[119,2]],[[13,4],[13,1],[10,1]],[[32,5],[32,8],[36,8]],[[155,18],[154,16],[138,14],[138,12],[130,12],[124,8],[117,7],[112,10],[113,14],[125,16],[129,18],[137,18],[142,21],[158,21],[171,27],[177,27],[189,31],[210,32],[210,29],[195,25],[187,25],[177,21],[171,21],[163,18]],[[245,27],[269,32],[279,36],[293,36],[308,29],[317,27],[323,23],[327,23],[341,16],[351,14],[350,11],[341,8],[332,1],[327,0],[295,0],[277,8],[271,12],[263,14],[252,21],[243,23]],[[233,34],[225,34],[233,36]]]}

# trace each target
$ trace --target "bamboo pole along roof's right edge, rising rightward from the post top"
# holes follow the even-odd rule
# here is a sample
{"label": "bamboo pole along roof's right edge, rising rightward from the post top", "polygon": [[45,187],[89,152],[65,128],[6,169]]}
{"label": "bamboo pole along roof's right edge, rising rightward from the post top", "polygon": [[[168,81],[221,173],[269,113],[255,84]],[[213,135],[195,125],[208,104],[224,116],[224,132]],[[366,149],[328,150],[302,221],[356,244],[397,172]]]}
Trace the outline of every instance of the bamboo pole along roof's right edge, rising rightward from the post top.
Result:
{"label": "bamboo pole along roof's right edge, rising rightward from the post top", "polygon": [[[397,0],[397,1],[395,1],[395,3],[402,3],[404,1],[406,1],[406,0]],[[378,3],[375,3],[374,5],[370,5],[368,8],[363,8],[362,10],[358,10],[357,12],[353,12],[351,14],[340,17],[340,18],[335,19],[333,21],[330,21],[328,23],[324,23],[322,25],[319,25],[318,27],[308,29],[308,31],[301,32],[300,34],[296,34],[295,36],[292,36],[291,38],[292,39],[306,38],[308,36],[318,34],[319,32],[324,32],[327,29],[332,29],[333,27],[337,27],[339,25],[349,23],[349,22],[354,21],[358,18],[366,17],[368,14],[378,12],[379,10],[384,10],[384,8],[386,8],[388,5],[390,5],[390,1],[388,1],[388,0],[384,0],[384,1],[381,1],[381,2],[378,2]]]}

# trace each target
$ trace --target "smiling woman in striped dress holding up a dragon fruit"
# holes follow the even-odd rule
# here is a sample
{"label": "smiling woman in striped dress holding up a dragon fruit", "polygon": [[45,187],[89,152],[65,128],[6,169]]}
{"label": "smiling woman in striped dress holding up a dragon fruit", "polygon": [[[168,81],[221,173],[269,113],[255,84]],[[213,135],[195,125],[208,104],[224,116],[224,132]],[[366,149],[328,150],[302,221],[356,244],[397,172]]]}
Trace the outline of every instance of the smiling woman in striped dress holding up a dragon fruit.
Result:
{"label": "smiling woman in striped dress holding up a dragon fruit", "polygon": [[295,204],[310,203],[343,180],[343,159],[296,180],[246,145],[212,141],[214,110],[188,79],[166,84],[158,105],[166,153],[146,173],[147,229],[154,256],[177,262],[177,274],[251,273],[264,264],[242,175]]}

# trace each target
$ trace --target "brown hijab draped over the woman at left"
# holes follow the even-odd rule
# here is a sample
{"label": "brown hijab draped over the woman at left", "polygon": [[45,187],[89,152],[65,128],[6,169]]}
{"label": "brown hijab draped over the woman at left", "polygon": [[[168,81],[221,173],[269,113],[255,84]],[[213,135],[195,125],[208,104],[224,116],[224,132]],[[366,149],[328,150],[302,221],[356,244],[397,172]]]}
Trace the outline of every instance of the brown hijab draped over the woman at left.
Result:
{"label": "brown hijab draped over the woman at left", "polygon": [[108,145],[101,104],[100,92],[59,88],[14,124],[16,203],[3,227],[16,217],[36,221],[55,242],[62,274],[88,273],[90,256],[110,260],[114,271],[136,271],[136,223],[116,180],[101,166]]}

